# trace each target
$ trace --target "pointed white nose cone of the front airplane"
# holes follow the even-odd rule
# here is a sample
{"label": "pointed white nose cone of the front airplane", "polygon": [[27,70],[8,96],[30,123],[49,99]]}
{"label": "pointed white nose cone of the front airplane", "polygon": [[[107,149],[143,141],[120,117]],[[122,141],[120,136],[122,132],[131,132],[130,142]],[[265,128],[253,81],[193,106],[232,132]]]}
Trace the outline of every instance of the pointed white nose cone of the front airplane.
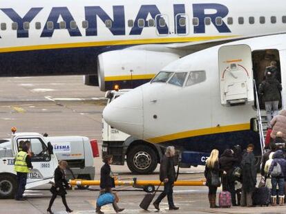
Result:
{"label": "pointed white nose cone of the front airplane", "polygon": [[143,138],[143,97],[137,87],[106,105],[102,113],[104,120],[125,133]]}

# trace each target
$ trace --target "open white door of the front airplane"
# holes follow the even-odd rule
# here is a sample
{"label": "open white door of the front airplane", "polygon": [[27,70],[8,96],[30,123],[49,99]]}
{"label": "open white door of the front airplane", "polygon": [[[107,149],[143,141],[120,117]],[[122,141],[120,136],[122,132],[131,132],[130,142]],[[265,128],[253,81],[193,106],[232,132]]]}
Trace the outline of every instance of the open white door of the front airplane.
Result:
{"label": "open white door of the front airplane", "polygon": [[218,50],[220,98],[225,106],[254,103],[251,48],[225,45]]}

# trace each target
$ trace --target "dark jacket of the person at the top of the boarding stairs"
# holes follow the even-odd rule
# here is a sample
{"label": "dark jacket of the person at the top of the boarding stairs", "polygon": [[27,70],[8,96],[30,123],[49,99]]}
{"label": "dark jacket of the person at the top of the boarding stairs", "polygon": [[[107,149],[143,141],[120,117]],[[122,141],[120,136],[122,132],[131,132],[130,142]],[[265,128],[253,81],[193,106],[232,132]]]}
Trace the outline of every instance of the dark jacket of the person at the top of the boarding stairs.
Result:
{"label": "dark jacket of the person at the top of the boarding stairs", "polygon": [[282,90],[281,84],[276,78],[269,77],[259,85],[258,92],[263,94],[263,101],[276,101],[280,100],[280,91]]}

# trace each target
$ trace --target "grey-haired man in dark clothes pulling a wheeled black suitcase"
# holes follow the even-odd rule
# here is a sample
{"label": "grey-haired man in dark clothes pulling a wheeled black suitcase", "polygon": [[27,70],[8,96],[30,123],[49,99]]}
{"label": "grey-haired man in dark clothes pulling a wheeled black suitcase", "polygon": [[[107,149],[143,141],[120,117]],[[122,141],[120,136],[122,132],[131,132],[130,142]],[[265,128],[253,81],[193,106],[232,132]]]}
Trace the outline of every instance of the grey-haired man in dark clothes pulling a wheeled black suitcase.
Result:
{"label": "grey-haired man in dark clothes pulling a wheeled black suitcase", "polygon": [[178,210],[179,207],[175,206],[173,202],[173,184],[175,182],[175,148],[167,147],[166,153],[160,163],[160,181],[164,182],[164,191],[158,196],[157,200],[153,203],[155,209],[160,210],[159,204],[168,197],[169,210]]}

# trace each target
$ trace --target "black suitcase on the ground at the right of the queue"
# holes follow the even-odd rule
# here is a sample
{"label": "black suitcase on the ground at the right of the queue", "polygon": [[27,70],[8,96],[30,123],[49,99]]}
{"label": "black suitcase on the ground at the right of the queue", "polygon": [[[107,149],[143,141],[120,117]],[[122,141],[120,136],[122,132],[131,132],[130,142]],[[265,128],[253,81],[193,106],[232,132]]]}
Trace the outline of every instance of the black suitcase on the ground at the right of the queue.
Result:
{"label": "black suitcase on the ground at the right of the queue", "polygon": [[266,186],[256,188],[252,194],[252,203],[254,205],[268,206],[270,204],[271,192]]}

